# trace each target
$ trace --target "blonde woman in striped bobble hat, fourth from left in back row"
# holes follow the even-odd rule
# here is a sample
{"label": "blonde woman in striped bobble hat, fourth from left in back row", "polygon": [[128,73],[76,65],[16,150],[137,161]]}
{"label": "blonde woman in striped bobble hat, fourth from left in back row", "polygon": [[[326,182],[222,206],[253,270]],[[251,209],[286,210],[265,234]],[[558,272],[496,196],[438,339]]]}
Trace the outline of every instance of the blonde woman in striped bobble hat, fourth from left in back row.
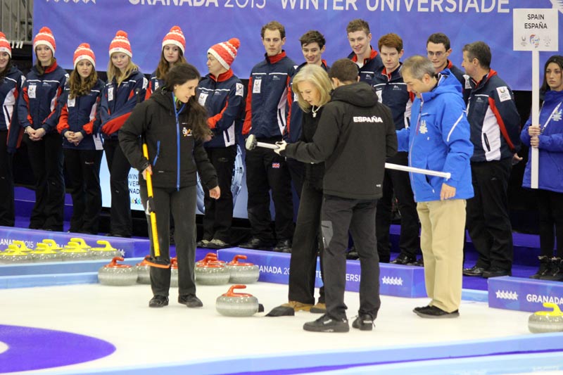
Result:
{"label": "blonde woman in striped bobble hat, fourth from left in back row", "polygon": [[131,60],[133,51],[127,32],[119,30],[115,34],[109,52],[108,83],[101,97],[100,118],[110,172],[110,236],[130,237],[133,226],[128,179],[131,165],[121,151],[118,134],[134,106],[144,100],[148,81]]}

